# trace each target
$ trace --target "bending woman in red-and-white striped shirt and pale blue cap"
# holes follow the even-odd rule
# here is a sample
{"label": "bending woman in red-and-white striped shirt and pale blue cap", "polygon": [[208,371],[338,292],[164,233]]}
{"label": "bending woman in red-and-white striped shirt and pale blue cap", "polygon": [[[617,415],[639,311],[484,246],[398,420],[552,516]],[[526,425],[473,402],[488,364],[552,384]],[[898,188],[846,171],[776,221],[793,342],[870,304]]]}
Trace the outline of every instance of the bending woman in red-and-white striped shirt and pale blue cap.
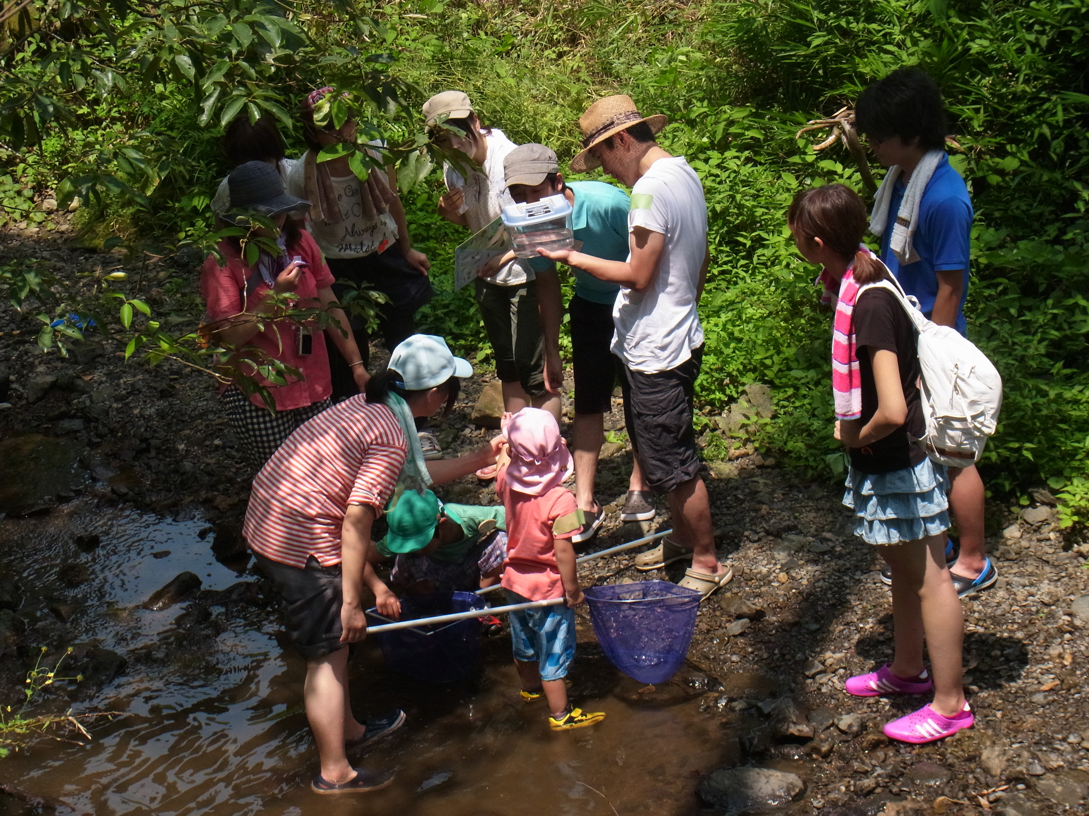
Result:
{"label": "bending woman in red-and-white striped shirt and pale blue cap", "polygon": [[359,722],[348,703],[344,646],[367,635],[364,586],[380,614],[401,614],[396,596],[367,564],[371,524],[399,481],[409,489],[458,479],[494,462],[502,444],[497,437],[474,454],[425,465],[413,417],[449,409],[458,378],[473,368],[441,337],[418,334],[394,349],[390,364],[367,383],[366,397],[328,408],[280,446],[254,480],[243,529],[282,597],[287,636],[306,659],[318,793],[366,792],[393,780],[391,771],[353,768],[346,756],[346,747],[389,734],[405,717],[394,709]]}

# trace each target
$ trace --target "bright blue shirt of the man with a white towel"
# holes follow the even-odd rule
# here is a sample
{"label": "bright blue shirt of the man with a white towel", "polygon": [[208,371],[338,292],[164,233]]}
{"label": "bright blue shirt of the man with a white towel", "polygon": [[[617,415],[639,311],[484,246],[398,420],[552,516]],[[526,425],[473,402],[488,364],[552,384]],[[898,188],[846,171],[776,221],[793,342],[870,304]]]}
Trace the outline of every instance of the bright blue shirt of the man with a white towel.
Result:
{"label": "bright blue shirt of the man with a white towel", "polygon": [[920,260],[902,265],[889,248],[889,242],[892,239],[892,225],[900,212],[905,188],[904,183],[897,178],[889,205],[889,226],[881,236],[881,260],[896,275],[904,290],[919,299],[919,306],[928,318],[934,310],[934,299],[938,297],[935,272],[963,269],[964,289],[957,306],[955,327],[960,334],[966,334],[964,301],[968,297],[972,218],[968,187],[950,164],[949,157],[943,156],[922,193],[922,201],[919,202],[919,225],[911,243]]}

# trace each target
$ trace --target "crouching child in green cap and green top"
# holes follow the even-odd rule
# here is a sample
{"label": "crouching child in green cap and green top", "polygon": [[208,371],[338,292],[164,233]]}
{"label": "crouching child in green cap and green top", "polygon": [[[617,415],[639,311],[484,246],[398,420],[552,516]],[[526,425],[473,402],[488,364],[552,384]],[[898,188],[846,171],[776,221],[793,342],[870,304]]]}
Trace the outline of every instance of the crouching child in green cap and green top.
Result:
{"label": "crouching child in green cap and green top", "polygon": [[[443,504],[431,491],[405,491],[387,510],[389,533],[371,549],[393,558],[390,583],[409,593],[472,592],[499,580],[506,559],[502,505]],[[377,552],[376,552],[377,551]]]}

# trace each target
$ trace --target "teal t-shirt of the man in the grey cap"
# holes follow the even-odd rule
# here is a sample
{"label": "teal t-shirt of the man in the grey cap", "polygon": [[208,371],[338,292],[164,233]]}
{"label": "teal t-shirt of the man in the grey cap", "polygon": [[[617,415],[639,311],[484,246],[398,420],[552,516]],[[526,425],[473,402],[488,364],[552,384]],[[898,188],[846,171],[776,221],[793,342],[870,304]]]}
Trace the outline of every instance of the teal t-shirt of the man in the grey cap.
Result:
{"label": "teal t-shirt of the man in the grey cap", "polygon": [[[604,182],[568,182],[567,186],[575,194],[571,225],[575,240],[582,242],[580,247],[575,245],[578,251],[610,261],[626,261],[629,251],[627,211],[631,207],[627,194]],[[554,269],[551,262],[547,267],[531,265],[538,272]],[[575,294],[578,297],[608,306],[616,300],[616,293],[620,292],[616,284],[599,281],[589,272],[574,267],[571,271],[575,274]]]}

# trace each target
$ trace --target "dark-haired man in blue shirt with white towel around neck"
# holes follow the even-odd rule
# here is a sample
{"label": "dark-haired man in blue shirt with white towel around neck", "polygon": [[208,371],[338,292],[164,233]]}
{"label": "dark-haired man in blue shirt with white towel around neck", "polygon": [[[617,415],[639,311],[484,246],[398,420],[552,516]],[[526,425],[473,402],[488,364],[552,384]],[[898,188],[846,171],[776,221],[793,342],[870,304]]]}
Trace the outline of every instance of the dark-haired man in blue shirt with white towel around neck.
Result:
{"label": "dark-haired man in blue shirt with white towel around neck", "polygon": [[[897,69],[862,91],[855,124],[889,168],[870,221],[881,237],[881,260],[928,318],[967,335],[971,198],[945,154],[941,89],[920,69]],[[967,595],[991,586],[998,571],[987,557],[983,482],[976,466],[950,468],[950,478],[960,546],[946,557],[956,557],[950,572],[957,593]]]}

